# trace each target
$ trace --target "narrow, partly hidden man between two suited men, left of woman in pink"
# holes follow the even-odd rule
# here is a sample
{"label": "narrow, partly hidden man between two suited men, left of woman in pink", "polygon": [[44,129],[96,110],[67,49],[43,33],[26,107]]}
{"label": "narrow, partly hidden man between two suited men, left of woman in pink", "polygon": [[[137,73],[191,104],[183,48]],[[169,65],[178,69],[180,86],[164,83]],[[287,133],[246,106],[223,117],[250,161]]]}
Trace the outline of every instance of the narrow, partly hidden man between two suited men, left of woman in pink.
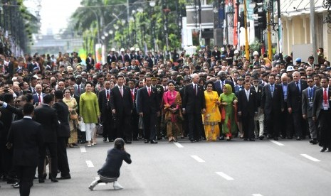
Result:
{"label": "narrow, partly hidden man between two suited men, left of woman in pink", "polygon": [[133,141],[138,140],[138,124],[139,124],[139,115],[137,114],[137,89],[135,88],[135,80],[129,81],[130,93],[132,97],[132,115],[131,115],[131,129],[133,135]]}

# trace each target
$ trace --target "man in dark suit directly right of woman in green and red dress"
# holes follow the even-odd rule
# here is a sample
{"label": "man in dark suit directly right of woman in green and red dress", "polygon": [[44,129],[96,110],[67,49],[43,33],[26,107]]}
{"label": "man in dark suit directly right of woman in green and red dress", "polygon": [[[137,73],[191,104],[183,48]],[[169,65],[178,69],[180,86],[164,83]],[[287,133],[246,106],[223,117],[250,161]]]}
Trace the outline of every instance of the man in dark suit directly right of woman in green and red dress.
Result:
{"label": "man in dark suit directly right of woman in green and red dress", "polygon": [[243,136],[245,141],[255,141],[254,137],[254,116],[258,114],[256,104],[256,92],[251,88],[251,82],[245,80],[244,89],[238,93],[238,116],[243,122]]}

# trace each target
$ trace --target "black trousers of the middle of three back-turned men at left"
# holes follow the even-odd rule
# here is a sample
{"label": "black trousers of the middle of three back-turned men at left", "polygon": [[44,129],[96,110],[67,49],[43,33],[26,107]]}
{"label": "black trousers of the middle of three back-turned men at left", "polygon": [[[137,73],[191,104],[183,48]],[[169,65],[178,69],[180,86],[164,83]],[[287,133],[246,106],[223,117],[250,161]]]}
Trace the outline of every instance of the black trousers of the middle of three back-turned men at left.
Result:
{"label": "black trousers of the middle of three back-turned men at left", "polygon": [[43,165],[44,165],[44,160],[46,158],[46,148],[48,148],[48,151],[52,159],[51,178],[56,178],[56,175],[58,173],[58,152],[57,152],[58,146],[56,145],[56,142],[43,143],[43,146],[39,149],[40,157],[38,163],[38,178],[43,178]]}

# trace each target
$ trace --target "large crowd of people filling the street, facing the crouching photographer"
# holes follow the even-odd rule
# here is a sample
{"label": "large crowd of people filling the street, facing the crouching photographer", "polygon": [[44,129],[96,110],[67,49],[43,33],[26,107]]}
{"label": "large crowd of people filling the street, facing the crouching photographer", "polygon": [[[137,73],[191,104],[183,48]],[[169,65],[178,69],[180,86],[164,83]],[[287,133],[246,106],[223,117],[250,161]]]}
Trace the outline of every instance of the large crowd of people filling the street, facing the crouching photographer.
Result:
{"label": "large crowd of people filling the street, facing the crouching photographer", "polygon": [[303,62],[257,51],[246,58],[233,45],[206,46],[192,55],[112,48],[103,65],[92,54],[86,64],[78,53],[1,55],[0,175],[17,181],[11,125],[26,116],[42,126],[39,183],[47,164],[52,182],[58,171],[60,179],[70,179],[66,148],[96,145],[101,125],[104,142],[309,137],[321,152],[331,151],[330,62],[322,48],[318,58],[314,64],[312,56]]}

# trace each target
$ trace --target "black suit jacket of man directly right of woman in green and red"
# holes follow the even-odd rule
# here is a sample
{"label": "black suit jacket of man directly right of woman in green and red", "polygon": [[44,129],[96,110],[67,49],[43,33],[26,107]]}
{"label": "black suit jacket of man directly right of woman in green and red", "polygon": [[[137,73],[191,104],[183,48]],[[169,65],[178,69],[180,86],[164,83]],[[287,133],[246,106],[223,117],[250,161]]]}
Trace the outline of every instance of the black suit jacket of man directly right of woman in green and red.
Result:
{"label": "black suit jacket of man directly right of woman in green and red", "polygon": [[239,91],[238,112],[239,111],[241,111],[241,116],[243,118],[248,116],[254,116],[255,112],[258,112],[255,90],[250,89],[248,102],[246,97],[246,89]]}

